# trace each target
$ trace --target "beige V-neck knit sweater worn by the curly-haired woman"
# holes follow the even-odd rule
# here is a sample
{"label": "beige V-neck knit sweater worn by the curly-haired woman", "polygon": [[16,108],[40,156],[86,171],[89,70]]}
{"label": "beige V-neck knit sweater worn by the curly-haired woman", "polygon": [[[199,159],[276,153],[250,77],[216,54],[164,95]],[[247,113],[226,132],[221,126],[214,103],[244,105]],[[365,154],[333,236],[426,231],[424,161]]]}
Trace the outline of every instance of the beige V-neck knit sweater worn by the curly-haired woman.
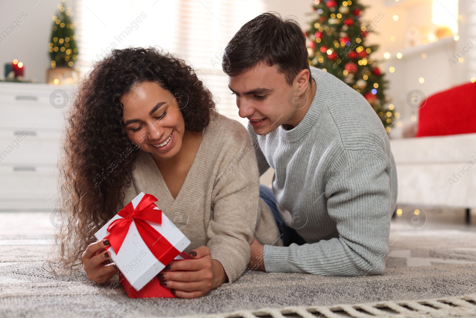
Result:
{"label": "beige V-neck knit sweater worn by the curly-haired woman", "polygon": [[154,195],[191,241],[186,251],[208,246],[232,282],[248,264],[253,234],[262,244],[282,243],[268,205],[259,198],[258,165],[248,131],[223,115],[212,119],[175,200],[150,154],[139,150],[122,206],[140,192]]}

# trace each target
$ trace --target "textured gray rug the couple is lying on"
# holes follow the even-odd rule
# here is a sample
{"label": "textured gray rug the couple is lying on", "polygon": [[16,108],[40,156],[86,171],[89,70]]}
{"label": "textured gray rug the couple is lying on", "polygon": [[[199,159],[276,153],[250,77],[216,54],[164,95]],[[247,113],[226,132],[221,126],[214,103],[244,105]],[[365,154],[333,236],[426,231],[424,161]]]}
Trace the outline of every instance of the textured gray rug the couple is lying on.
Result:
{"label": "textured gray rug the couple is lying on", "polygon": [[333,306],[475,293],[476,233],[392,224],[382,276],[249,272],[197,299],[130,299],[83,273],[42,269],[53,226],[47,213],[0,213],[0,317],[177,317],[286,306]]}

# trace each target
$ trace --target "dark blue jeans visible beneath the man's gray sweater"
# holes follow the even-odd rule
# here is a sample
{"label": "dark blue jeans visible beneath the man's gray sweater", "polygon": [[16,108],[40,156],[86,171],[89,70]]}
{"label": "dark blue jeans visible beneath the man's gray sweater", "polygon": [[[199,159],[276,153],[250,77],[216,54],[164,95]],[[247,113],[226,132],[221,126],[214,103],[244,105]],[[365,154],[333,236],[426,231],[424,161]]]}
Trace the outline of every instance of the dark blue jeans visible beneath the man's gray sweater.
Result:
{"label": "dark blue jeans visible beneath the man's gray sweater", "polygon": [[279,215],[278,206],[276,205],[276,197],[274,196],[273,191],[266,185],[260,183],[259,197],[261,197],[271,209],[276,225],[278,226],[279,234],[281,235],[280,237],[283,240],[283,245],[289,246],[292,243],[296,243],[297,245],[305,244],[306,241],[304,238],[297,234],[294,228],[284,223],[281,215]]}

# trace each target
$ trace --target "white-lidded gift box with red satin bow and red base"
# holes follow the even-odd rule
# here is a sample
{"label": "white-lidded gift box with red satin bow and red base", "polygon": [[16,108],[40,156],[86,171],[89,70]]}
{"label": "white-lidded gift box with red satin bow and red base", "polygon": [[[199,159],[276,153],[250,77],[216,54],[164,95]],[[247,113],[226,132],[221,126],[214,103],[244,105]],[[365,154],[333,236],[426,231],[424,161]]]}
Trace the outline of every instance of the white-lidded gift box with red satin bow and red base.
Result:
{"label": "white-lidded gift box with red satin bow and red base", "polygon": [[172,260],[187,257],[186,253],[181,254],[185,257],[177,256],[190,240],[155,205],[156,201],[153,195],[141,192],[94,234],[98,240],[109,240],[110,258],[119,268],[129,297],[174,297],[154,277]]}

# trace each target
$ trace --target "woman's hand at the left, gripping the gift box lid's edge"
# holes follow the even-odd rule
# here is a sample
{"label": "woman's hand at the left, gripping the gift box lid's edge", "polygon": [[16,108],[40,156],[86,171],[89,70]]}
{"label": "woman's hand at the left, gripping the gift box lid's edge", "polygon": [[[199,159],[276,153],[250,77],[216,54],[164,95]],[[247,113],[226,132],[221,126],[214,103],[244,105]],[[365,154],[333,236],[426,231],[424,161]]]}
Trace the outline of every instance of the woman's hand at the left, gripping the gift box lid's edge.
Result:
{"label": "woman's hand at the left, gripping the gift box lid's edge", "polygon": [[99,284],[107,282],[119,271],[115,263],[108,263],[111,255],[104,250],[107,246],[109,246],[109,240],[99,240],[89,244],[81,256],[86,275]]}

